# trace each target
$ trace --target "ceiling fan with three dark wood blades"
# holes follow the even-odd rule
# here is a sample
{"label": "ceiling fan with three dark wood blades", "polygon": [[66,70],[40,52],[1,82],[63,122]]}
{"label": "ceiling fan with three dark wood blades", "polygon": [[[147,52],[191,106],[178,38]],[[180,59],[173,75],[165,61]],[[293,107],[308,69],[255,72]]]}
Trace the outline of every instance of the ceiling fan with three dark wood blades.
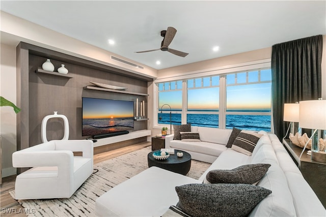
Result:
{"label": "ceiling fan with three dark wood blades", "polygon": [[175,34],[177,33],[177,29],[173,27],[168,27],[167,30],[162,30],[161,31],[161,37],[164,37],[163,41],[161,42],[161,47],[153,50],[145,50],[145,51],[137,51],[135,53],[145,53],[145,52],[151,52],[155,50],[162,50],[162,51],[168,51],[170,53],[173,53],[177,56],[185,57],[188,55],[188,53],[181,52],[179,50],[174,50],[169,48],[170,43],[172,42]]}

